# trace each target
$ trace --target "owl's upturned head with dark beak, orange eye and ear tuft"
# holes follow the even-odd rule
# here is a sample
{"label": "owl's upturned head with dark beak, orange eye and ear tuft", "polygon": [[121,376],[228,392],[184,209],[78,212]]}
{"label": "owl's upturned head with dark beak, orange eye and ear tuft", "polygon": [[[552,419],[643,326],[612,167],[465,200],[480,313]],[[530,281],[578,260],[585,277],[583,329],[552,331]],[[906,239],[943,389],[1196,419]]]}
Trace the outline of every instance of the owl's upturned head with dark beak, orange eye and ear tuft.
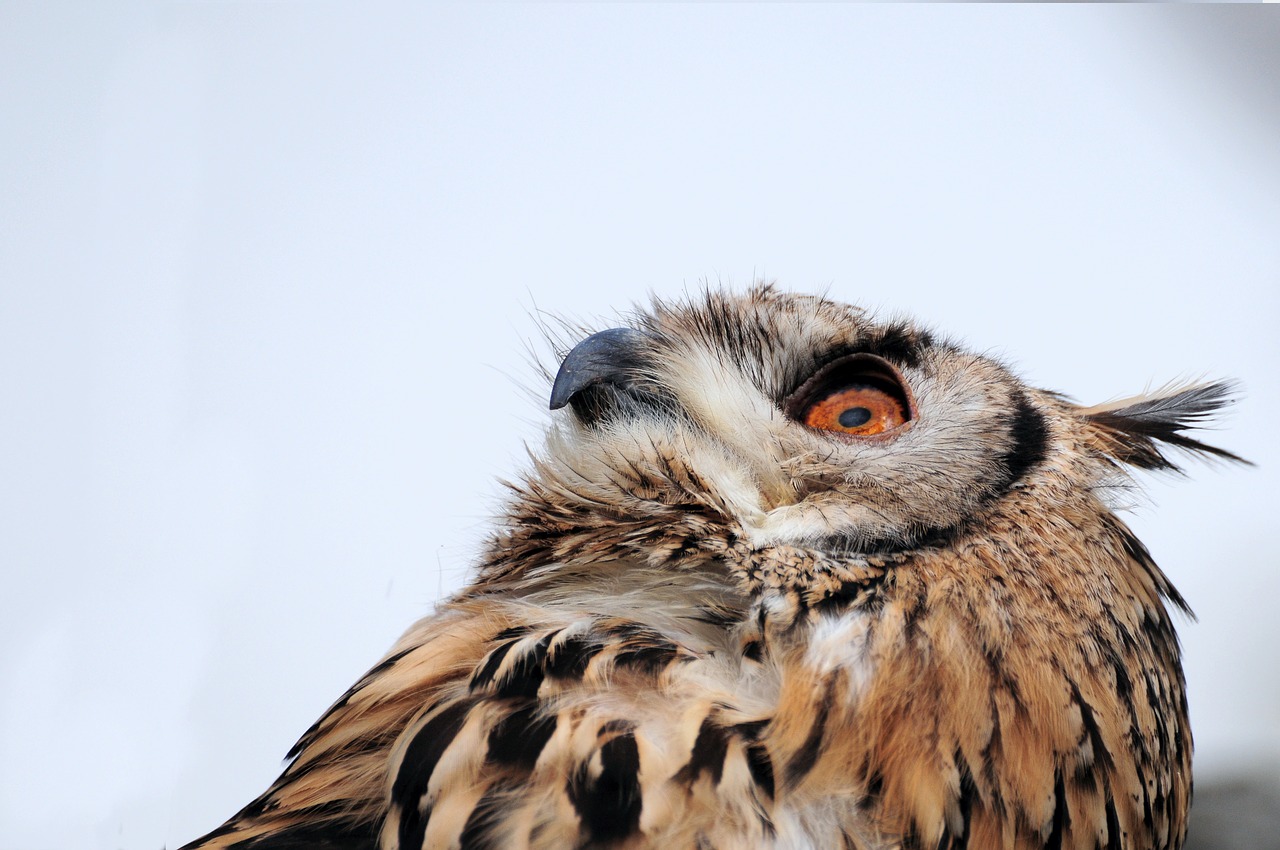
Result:
{"label": "owl's upturned head with dark beak, orange eye and ear tuft", "polygon": [[570,526],[692,515],[758,547],[906,550],[1032,481],[1105,493],[1125,466],[1172,469],[1161,443],[1231,458],[1183,433],[1230,390],[1079,407],[911,321],[768,285],[708,292],[563,356],[532,490],[571,503]]}

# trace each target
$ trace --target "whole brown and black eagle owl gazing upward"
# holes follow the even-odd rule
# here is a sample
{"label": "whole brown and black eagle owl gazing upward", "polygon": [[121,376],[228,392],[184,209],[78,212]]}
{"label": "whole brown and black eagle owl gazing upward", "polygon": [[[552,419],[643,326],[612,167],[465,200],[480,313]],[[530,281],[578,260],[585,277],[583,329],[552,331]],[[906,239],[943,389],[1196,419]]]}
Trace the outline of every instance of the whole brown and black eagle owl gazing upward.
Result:
{"label": "whole brown and black eagle owl gazing upward", "polygon": [[1179,847],[1187,604],[1108,495],[1238,460],[1184,433],[1230,396],[657,302],[564,355],[474,581],[187,847]]}

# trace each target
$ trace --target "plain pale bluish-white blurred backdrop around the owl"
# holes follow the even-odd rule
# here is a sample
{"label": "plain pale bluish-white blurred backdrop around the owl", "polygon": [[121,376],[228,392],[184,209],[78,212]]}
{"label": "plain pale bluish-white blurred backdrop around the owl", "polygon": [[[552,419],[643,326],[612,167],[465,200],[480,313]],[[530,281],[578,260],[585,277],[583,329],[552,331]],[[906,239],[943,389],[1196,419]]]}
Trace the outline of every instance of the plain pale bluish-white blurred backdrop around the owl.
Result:
{"label": "plain pale bluish-white blurred backdrop around the owl", "polygon": [[1129,521],[1201,781],[1275,776],[1277,12],[0,6],[0,847],[232,814],[465,576],[530,314],[756,277],[1082,401],[1242,379],[1258,469]]}

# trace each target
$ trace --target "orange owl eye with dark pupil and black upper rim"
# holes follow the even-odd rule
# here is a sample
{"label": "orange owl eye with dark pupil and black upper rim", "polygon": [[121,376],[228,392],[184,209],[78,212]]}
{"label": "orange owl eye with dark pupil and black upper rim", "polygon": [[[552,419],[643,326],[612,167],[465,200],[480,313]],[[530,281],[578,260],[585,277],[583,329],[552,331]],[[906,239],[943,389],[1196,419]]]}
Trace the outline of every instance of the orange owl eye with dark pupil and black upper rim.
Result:
{"label": "orange owl eye with dark pupil and black upper rim", "polygon": [[820,431],[874,437],[911,420],[901,375],[874,355],[842,357],[806,380],[786,401],[787,415]]}

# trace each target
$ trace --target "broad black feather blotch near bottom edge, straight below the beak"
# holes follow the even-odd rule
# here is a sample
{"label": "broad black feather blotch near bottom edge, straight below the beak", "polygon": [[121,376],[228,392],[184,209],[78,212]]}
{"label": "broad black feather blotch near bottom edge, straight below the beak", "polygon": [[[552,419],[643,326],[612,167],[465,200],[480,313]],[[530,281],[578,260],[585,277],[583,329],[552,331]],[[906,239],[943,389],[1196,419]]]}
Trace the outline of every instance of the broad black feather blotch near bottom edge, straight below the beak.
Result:
{"label": "broad black feather blotch near bottom edge, straight below the beak", "polygon": [[588,842],[625,838],[640,824],[640,751],[634,735],[618,735],[600,746],[600,774],[590,777],[590,759],[570,777],[570,803],[586,828]]}

